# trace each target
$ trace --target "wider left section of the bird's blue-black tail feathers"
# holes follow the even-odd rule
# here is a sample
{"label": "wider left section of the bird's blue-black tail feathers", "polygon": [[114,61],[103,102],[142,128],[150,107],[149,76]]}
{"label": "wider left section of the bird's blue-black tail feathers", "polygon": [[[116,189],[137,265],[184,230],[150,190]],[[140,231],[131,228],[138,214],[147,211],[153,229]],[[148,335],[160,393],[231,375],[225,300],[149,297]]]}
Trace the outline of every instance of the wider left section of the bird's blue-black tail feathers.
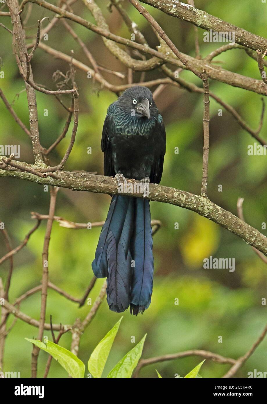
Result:
{"label": "wider left section of the bird's blue-black tail feathers", "polygon": [[107,276],[107,303],[118,313],[130,304],[130,239],[134,206],[134,198],[120,195],[112,198],[92,263],[97,278]]}

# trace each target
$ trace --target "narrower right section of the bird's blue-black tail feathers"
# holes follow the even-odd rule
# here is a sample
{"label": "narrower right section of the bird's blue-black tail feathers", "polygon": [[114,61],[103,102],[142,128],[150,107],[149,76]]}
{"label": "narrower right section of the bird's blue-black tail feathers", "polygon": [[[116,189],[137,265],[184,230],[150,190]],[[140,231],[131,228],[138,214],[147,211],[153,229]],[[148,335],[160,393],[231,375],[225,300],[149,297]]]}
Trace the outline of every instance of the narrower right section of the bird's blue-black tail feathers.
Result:
{"label": "narrower right section of the bird's blue-black tail feathers", "polygon": [[135,199],[134,222],[131,253],[135,266],[132,268],[130,313],[137,316],[149,307],[153,289],[154,259],[149,200]]}

